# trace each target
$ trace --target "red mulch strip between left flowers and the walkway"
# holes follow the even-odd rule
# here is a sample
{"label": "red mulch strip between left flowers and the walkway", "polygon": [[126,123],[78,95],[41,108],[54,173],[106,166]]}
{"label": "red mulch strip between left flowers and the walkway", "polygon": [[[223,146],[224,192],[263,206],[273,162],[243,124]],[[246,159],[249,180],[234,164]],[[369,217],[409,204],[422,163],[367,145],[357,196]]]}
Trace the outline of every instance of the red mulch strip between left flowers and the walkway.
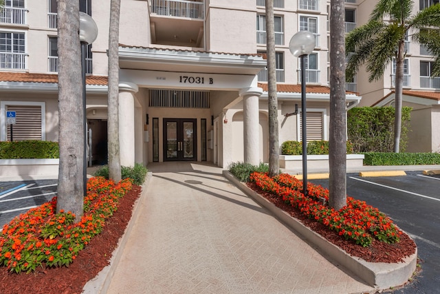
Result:
{"label": "red mulch strip between left flowers and the walkway", "polygon": [[118,210],[113,213],[99,235],[80,251],[69,267],[39,268],[34,273],[10,273],[0,267],[0,293],[47,294],[82,293],[85,284],[96,277],[110,262],[111,255],[131,218],[133,204],[139,198],[141,188],[133,189],[121,198]]}

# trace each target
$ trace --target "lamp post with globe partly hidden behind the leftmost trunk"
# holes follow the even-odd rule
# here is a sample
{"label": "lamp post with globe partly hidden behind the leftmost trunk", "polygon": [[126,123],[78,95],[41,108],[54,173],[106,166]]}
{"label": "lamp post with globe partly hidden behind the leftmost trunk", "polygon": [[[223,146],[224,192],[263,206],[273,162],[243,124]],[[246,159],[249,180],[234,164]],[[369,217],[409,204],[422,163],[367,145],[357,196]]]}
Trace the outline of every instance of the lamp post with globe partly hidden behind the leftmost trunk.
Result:
{"label": "lamp post with globe partly hidden behind the leftmost trunk", "polygon": [[80,43],[81,43],[81,73],[83,74],[83,129],[84,129],[84,162],[83,162],[83,180],[84,180],[84,196],[87,194],[87,116],[86,116],[86,53],[87,45],[93,43],[98,36],[98,26],[89,14],[80,12]]}

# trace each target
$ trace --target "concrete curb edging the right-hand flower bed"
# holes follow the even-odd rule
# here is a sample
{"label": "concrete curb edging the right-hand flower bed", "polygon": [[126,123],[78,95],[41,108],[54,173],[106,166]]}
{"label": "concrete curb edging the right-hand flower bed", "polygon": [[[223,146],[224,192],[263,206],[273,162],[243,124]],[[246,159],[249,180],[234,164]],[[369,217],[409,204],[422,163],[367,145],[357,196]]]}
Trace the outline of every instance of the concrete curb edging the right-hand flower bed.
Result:
{"label": "concrete curb edging the right-hand flower bed", "polygon": [[252,191],[252,189],[248,188],[243,182],[239,182],[229,171],[223,171],[223,175],[262,207],[265,207],[265,209],[273,213],[274,216],[287,225],[287,227],[303,235],[307,241],[317,246],[320,251],[327,253],[331,260],[344,266],[351,273],[360,277],[366,284],[369,284],[369,286],[373,286],[377,289],[400,286],[405,284],[412,276],[412,273],[414,273],[417,266],[417,249],[416,252],[406,258],[404,262],[397,264],[366,262],[361,258],[355,258],[338,246],[325,240],[325,238],[318,233],[305,227],[305,225],[296,218],[292,218],[292,216],[289,216],[285,211],[278,209],[272,202],[269,202],[258,193]]}

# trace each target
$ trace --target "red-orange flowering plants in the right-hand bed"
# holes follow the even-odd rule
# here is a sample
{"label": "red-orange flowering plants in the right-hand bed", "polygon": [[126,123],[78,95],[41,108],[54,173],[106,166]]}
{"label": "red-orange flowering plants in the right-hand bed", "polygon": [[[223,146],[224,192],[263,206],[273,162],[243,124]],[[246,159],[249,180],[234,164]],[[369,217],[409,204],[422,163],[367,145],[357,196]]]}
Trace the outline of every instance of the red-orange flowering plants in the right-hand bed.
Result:
{"label": "red-orange flowering plants in the right-hand bed", "polygon": [[304,196],[303,182],[289,174],[270,178],[267,173],[254,172],[250,180],[260,189],[283,198],[287,204],[296,207],[307,218],[324,224],[347,240],[353,240],[364,247],[376,238],[382,242],[399,242],[402,233],[390,218],[366,202],[347,197],[347,205],[339,211],[329,207],[329,191],[319,185],[307,183]]}

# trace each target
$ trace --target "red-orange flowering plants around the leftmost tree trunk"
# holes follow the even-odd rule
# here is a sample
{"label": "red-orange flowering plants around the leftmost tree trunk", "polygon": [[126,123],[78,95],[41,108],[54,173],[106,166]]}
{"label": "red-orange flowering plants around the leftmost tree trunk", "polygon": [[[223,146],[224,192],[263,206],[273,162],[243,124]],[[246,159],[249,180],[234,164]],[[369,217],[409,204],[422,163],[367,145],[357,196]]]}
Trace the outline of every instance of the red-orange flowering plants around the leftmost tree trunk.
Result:
{"label": "red-orange flowering plants around the leftmost tree trunk", "polygon": [[70,211],[56,211],[56,197],[5,224],[0,235],[0,264],[10,271],[28,273],[37,266],[69,266],[79,251],[104,227],[118,208],[118,200],[133,187],[129,178],[118,184],[90,178],[84,199],[84,216],[74,223]]}

